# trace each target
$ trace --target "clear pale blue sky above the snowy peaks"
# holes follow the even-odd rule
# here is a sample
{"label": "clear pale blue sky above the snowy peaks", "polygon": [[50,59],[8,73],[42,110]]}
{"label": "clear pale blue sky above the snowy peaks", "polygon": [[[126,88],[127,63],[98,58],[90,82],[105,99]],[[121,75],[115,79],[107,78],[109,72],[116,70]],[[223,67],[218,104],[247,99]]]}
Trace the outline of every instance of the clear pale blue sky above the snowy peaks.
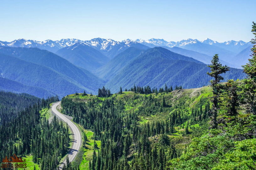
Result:
{"label": "clear pale blue sky above the snowy peaks", "polygon": [[0,40],[249,41],[255,0],[2,0]]}

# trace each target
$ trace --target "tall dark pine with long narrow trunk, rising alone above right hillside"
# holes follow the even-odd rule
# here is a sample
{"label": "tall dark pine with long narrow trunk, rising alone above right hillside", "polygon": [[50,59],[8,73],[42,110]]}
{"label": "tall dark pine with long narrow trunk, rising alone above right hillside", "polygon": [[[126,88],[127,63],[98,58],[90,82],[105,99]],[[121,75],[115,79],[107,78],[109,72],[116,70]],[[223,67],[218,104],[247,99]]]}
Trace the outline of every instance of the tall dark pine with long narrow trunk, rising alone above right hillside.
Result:
{"label": "tall dark pine with long narrow trunk, rising alone above right hillside", "polygon": [[217,113],[218,113],[218,103],[219,103],[219,95],[220,95],[220,86],[219,83],[221,80],[223,80],[223,77],[220,75],[222,73],[226,73],[230,70],[229,67],[222,66],[222,64],[219,62],[219,56],[216,54],[213,56],[211,60],[211,64],[208,66],[210,67],[211,72],[207,72],[207,74],[214,78],[214,80],[211,80],[211,86],[213,88],[213,105],[211,110],[211,128],[215,129],[217,128]]}

